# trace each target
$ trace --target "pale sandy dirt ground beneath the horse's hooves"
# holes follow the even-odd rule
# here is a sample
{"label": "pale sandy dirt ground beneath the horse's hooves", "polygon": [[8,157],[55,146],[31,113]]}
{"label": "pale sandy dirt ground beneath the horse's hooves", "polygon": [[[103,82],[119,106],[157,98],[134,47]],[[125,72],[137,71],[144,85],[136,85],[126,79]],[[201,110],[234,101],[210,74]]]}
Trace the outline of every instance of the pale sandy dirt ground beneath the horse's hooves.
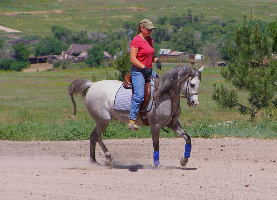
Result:
{"label": "pale sandy dirt ground beneath the horse's hooves", "polygon": [[[89,141],[0,141],[0,199],[277,199],[277,140],[104,140],[114,168],[89,163]],[[96,159],[105,158],[97,144]],[[263,170],[262,170],[263,169]]]}

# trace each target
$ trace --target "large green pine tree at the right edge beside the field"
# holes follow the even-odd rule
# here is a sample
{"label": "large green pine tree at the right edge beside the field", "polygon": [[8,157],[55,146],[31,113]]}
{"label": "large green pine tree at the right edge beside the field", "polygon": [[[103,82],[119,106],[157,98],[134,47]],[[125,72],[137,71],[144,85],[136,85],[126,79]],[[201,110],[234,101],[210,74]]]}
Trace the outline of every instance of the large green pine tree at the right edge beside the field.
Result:
{"label": "large green pine tree at the right edge beside the field", "polygon": [[[269,24],[274,41],[277,33],[275,22]],[[235,48],[231,48],[226,42],[227,52],[231,56],[231,61],[227,67],[221,70],[223,79],[234,87],[231,91],[223,85],[216,87],[212,99],[223,109],[239,108],[241,114],[250,114],[255,119],[256,113],[263,107],[277,102],[277,62],[272,53],[276,51],[272,48],[276,46],[274,42],[259,31],[258,25],[251,29],[246,23],[244,15],[243,25],[234,33]],[[248,95],[249,107],[239,100],[235,90],[243,90]],[[274,100],[274,98],[276,98]]]}

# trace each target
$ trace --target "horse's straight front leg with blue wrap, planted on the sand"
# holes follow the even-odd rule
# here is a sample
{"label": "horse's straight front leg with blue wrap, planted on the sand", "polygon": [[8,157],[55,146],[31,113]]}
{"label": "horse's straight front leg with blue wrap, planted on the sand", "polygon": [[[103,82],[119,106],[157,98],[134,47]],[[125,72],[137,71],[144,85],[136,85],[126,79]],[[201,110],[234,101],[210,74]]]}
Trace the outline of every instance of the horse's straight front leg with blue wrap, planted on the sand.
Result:
{"label": "horse's straight front leg with blue wrap, planted on the sand", "polygon": [[159,137],[160,137],[160,125],[155,124],[153,127],[151,126],[151,135],[154,147],[153,159],[154,165],[158,167],[163,167],[160,163],[160,144],[159,144]]}

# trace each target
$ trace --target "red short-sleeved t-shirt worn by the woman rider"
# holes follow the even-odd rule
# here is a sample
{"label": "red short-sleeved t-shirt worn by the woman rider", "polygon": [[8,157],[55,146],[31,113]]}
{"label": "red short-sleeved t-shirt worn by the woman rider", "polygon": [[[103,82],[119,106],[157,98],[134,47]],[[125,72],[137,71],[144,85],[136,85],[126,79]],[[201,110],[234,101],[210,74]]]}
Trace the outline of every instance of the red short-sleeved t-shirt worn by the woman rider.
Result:
{"label": "red short-sleeved t-shirt worn by the woman rider", "polygon": [[[152,68],[153,55],[155,50],[153,48],[152,37],[147,36],[147,41],[143,40],[139,35],[134,37],[130,47],[139,49],[137,59],[147,68]],[[134,67],[137,67],[133,64]]]}

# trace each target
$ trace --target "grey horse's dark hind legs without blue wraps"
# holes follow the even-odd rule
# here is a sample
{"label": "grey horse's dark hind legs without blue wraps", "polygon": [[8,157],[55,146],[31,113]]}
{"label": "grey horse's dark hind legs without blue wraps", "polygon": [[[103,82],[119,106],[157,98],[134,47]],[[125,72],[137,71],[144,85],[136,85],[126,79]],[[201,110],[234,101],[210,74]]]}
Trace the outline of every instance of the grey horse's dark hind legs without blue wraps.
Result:
{"label": "grey horse's dark hind legs without blue wraps", "polygon": [[92,162],[92,163],[97,163],[96,159],[95,159],[95,146],[96,146],[96,142],[98,142],[98,144],[100,145],[100,147],[104,151],[105,156],[107,158],[106,162],[105,162],[105,165],[106,166],[111,166],[112,165],[111,154],[110,154],[110,152],[108,151],[108,149],[106,148],[105,144],[102,142],[102,139],[101,139],[101,135],[106,130],[106,128],[108,127],[109,122],[110,122],[110,120],[108,120],[106,122],[102,121],[101,124],[96,123],[96,126],[94,127],[94,130],[90,134],[90,162]]}

